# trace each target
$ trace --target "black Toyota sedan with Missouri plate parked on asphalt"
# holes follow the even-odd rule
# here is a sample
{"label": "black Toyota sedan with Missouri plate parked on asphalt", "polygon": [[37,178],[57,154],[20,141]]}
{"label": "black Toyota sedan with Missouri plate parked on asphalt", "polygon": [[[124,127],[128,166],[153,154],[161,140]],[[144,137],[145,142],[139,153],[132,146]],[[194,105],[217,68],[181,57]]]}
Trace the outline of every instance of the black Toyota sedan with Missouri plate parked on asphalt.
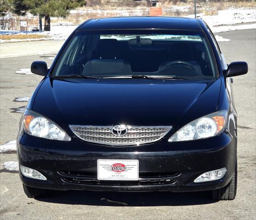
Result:
{"label": "black Toyota sedan with Missouri plate parked on asphalt", "polygon": [[237,189],[233,76],[202,19],[118,17],[82,23],[23,113],[17,137],[28,197],[54,190]]}

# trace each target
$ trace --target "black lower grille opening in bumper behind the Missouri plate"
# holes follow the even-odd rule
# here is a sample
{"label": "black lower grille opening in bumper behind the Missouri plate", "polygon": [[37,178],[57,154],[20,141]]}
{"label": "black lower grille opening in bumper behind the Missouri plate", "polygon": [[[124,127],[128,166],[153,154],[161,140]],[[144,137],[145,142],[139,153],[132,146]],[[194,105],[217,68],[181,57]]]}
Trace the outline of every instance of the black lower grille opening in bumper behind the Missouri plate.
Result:
{"label": "black lower grille opening in bumper behind the Missouri plate", "polygon": [[[58,171],[62,181],[72,184],[82,184],[90,186],[157,186],[157,185],[170,185],[175,184],[176,177],[180,173],[169,174],[144,174],[140,175],[138,181],[100,181],[93,174],[87,174],[82,172],[65,172]],[[169,176],[167,176],[169,175]]]}

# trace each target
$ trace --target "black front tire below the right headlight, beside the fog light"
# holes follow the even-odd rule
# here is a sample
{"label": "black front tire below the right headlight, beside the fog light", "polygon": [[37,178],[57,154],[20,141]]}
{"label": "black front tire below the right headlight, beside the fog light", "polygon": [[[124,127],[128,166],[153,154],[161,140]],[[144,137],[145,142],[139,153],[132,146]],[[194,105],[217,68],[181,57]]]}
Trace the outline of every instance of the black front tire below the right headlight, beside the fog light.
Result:
{"label": "black front tire below the right headlight, beside the fog light", "polygon": [[235,166],[235,171],[227,186],[222,187],[221,189],[216,189],[212,191],[212,198],[215,200],[233,200],[237,194],[237,161]]}

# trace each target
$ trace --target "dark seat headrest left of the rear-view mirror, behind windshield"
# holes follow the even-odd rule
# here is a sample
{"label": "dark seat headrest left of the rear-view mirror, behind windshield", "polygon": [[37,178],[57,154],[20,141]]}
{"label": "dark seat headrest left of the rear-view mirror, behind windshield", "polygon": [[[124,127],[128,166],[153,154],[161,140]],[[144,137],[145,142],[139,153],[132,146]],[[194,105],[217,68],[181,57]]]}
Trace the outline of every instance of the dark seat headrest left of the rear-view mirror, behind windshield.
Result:
{"label": "dark seat headrest left of the rear-view mirror, behind windshield", "polygon": [[120,53],[117,39],[100,39],[97,44],[97,54],[100,59],[118,59]]}

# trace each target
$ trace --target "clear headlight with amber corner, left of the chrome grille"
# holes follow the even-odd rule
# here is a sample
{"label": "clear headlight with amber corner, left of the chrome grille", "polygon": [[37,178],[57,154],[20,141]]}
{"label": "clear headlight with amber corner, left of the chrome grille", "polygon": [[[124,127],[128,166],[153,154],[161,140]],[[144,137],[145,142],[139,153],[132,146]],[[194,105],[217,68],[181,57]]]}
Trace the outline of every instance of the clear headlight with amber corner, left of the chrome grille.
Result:
{"label": "clear headlight with amber corner, left of the chrome grille", "polygon": [[26,133],[36,137],[59,141],[71,140],[70,136],[57,124],[29,109],[26,109],[23,114],[23,128]]}

